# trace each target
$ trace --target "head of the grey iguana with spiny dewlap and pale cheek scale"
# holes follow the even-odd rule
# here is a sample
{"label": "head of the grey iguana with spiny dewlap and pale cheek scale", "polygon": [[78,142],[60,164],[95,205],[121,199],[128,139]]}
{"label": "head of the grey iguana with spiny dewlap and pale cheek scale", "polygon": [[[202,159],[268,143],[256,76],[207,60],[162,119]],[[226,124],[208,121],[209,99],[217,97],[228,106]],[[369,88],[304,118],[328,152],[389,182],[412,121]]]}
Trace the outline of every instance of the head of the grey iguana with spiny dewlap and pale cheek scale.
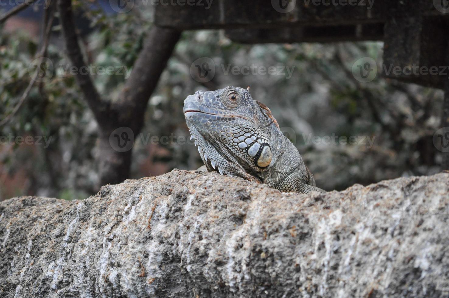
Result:
{"label": "head of the grey iguana with spiny dewlap and pale cheek scale", "polygon": [[185,99],[184,114],[208,169],[217,166],[221,174],[254,175],[273,162],[269,127],[277,123],[249,89],[197,91]]}

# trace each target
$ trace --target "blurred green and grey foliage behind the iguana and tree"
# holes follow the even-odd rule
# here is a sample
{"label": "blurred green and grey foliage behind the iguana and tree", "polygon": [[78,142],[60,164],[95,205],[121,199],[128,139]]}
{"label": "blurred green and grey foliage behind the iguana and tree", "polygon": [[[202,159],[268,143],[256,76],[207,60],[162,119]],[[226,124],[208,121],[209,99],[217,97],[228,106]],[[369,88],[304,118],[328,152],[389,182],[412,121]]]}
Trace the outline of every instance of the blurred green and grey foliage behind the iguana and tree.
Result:
{"label": "blurred green and grey foliage behind the iguana and tree", "polygon": [[[72,4],[87,63],[132,71],[152,28],[149,9],[117,13],[109,1]],[[2,2],[0,15],[16,6]],[[0,25],[0,120],[13,114],[0,127],[0,201],[22,195],[80,199],[99,190],[98,124],[75,76],[62,67],[70,61],[58,17],[45,56],[52,75],[35,83],[22,104],[49,17],[44,5],[35,5]],[[251,87],[325,190],[437,173],[442,156],[432,136],[440,126],[443,92],[383,79],[382,53],[382,42],[247,45],[222,30],[184,31],[134,135],[129,178],[200,167],[197,148],[187,141],[183,101],[197,90],[229,85]],[[215,67],[207,82],[191,71],[204,57]],[[362,57],[378,66],[367,83],[352,75]],[[276,71],[269,74],[264,69],[270,66]],[[128,79],[126,71],[93,71],[91,77],[110,101]]]}

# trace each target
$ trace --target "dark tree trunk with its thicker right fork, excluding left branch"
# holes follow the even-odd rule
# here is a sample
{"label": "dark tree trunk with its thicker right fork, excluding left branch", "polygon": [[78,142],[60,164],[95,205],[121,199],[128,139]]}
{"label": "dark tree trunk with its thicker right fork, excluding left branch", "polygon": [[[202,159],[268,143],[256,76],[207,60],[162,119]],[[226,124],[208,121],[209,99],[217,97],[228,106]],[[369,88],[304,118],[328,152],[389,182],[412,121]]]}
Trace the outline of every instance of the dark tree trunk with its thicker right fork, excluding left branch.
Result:
{"label": "dark tree trunk with its thicker right fork, excluding left branch", "polygon": [[97,118],[100,126],[97,147],[99,186],[117,184],[130,178],[134,137],[145,124],[148,100],[179,38],[179,31],[153,26],[120,94],[120,100],[111,106],[109,114]]}

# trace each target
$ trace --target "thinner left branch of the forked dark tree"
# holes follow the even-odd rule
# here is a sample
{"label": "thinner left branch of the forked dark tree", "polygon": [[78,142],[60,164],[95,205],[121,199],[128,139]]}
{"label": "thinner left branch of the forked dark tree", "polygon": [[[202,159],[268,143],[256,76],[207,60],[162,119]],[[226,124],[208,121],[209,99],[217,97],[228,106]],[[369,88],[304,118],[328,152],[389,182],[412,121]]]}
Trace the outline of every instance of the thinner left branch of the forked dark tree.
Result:
{"label": "thinner left branch of the forked dark tree", "polygon": [[[81,70],[87,68],[83,53],[78,43],[78,34],[75,31],[75,22],[73,20],[72,4],[70,0],[59,0],[58,2],[62,32],[64,33],[64,41],[66,44],[67,55],[76,69]],[[110,102],[103,101],[98,94],[97,89],[93,85],[89,74],[81,74],[77,72],[75,78],[79,88],[92,110],[98,124],[102,126],[110,110]]]}

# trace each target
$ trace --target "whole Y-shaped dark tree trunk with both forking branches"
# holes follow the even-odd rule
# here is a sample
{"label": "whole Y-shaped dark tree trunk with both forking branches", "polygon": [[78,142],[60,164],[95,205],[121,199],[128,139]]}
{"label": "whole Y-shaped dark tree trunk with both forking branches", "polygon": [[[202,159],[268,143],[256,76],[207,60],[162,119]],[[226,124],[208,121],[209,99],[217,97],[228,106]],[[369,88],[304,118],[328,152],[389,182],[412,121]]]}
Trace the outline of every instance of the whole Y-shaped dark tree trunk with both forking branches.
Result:
{"label": "whole Y-shaped dark tree trunk with both forking branches", "polygon": [[[58,0],[58,8],[67,56],[75,68],[87,67],[75,30],[72,1]],[[139,133],[144,125],[148,100],[180,34],[180,31],[174,29],[152,26],[118,101],[112,102],[102,98],[89,75],[81,72],[75,75],[99,126],[96,161],[99,166],[100,185],[120,183],[129,178],[133,144],[133,141],[129,140],[133,139],[132,135]]]}

